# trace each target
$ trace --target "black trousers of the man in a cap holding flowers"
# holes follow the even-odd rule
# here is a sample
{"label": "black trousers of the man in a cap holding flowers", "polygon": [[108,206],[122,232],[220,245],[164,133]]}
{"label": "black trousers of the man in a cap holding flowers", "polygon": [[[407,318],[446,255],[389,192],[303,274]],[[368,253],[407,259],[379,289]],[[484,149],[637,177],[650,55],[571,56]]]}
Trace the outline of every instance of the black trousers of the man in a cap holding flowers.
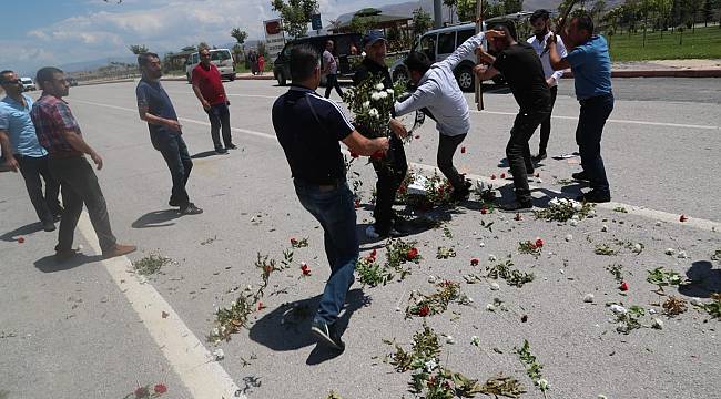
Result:
{"label": "black trousers of the man in a cap holding flowers", "polygon": [[393,225],[393,204],[396,201],[396,192],[408,172],[406,152],[403,142],[395,135],[390,136],[390,147],[386,160],[373,161],[378,182],[376,183],[376,206],[373,209],[375,217],[375,231],[385,235]]}

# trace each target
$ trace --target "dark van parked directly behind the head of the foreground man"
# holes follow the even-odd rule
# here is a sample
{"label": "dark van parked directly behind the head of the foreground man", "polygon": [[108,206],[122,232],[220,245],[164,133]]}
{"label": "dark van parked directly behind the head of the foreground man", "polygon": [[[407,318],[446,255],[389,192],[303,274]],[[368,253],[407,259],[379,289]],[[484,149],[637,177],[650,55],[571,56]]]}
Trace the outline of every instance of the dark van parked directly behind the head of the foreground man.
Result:
{"label": "dark van parked directly behind the head of the foreground man", "polygon": [[[301,38],[290,41],[285,43],[285,47],[273,63],[273,76],[278,82],[278,85],[285,85],[291,80],[291,50],[296,45],[305,44],[315,48],[318,53],[323,53],[325,43],[328,40],[333,40],[335,43],[334,55],[338,59],[338,76],[352,76],[355,73],[353,68],[355,63],[351,62],[351,58],[354,55],[352,49],[359,51],[362,39],[363,37],[358,33],[341,33]],[[321,84],[325,85],[325,76],[321,79]]]}

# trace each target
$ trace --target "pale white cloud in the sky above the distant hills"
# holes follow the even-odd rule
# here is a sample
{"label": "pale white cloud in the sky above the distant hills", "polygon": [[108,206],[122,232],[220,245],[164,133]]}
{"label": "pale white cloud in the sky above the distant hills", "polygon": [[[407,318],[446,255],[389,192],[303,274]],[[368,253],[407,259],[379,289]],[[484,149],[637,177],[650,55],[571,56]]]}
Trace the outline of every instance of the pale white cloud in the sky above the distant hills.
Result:
{"label": "pale white cloud in the sky above the distant hills", "polygon": [[[399,0],[400,2],[403,0]],[[88,0],[98,4],[101,0]],[[324,20],[388,0],[319,0]],[[263,38],[263,20],[276,18],[271,0],[124,0],[103,11],[68,18],[27,32],[16,43],[22,58],[3,45],[2,64],[37,68],[108,57],[130,55],[131,44],[153,51],[177,51],[201,41],[232,43],[230,31],[240,27],[250,39]],[[7,54],[7,55],[6,55]],[[30,57],[29,54],[35,54]],[[9,57],[13,59],[10,60]]]}

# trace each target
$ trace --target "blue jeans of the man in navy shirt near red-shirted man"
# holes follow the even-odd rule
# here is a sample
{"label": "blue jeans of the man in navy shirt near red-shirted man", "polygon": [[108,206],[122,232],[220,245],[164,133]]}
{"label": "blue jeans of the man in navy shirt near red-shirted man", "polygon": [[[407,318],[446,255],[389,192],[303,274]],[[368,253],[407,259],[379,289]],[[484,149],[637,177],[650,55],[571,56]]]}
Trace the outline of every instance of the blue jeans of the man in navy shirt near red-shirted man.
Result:
{"label": "blue jeans of the man in navy shirt near red-shirted man", "polygon": [[187,153],[185,141],[180,134],[151,134],[150,139],[153,147],[163,155],[173,178],[170,201],[180,207],[184,207],[190,202],[185,184],[187,184],[187,178],[193,168],[193,160]]}

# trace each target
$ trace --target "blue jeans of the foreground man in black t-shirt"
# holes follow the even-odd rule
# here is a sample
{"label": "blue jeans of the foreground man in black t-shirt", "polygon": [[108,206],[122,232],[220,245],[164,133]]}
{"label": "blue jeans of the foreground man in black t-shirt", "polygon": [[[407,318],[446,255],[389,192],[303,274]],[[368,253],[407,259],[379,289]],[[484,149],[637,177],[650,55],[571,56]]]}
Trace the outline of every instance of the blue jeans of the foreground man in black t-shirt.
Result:
{"label": "blue jeans of the foreground man in black t-shirt", "polygon": [[295,178],[295,193],[303,207],[323,227],[325,255],[331,277],[321,297],[316,321],[332,325],[338,318],[345,297],[355,277],[358,260],[358,236],[353,193],[346,182],[321,186]]}

